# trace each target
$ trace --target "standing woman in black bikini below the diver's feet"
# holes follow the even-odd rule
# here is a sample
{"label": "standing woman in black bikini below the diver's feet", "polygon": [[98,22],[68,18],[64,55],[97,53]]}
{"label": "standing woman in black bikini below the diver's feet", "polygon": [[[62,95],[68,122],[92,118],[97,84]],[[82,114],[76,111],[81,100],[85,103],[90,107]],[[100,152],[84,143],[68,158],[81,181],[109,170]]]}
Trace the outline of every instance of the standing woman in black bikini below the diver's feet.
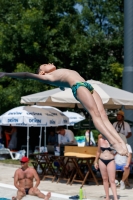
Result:
{"label": "standing woman in black bikini below the diver's feet", "polygon": [[114,196],[114,200],[118,200],[115,185],[115,161],[114,151],[110,148],[109,142],[102,135],[98,139],[98,150],[94,162],[96,169],[100,169],[104,190],[106,194],[105,200],[109,200],[109,182]]}

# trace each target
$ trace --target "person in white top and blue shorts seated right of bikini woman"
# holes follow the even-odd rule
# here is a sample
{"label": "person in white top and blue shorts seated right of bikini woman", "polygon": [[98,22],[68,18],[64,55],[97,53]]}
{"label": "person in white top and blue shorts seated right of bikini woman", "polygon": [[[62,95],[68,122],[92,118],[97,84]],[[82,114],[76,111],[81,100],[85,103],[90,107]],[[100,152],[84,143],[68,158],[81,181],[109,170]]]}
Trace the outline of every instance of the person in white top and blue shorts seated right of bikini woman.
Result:
{"label": "person in white top and blue shorts seated right of bikini woman", "polygon": [[[120,136],[122,139],[125,137],[122,134]],[[128,178],[128,176],[130,174],[130,163],[131,163],[131,159],[132,159],[132,148],[129,144],[127,144],[126,137],[123,140],[125,141],[128,152],[129,152],[128,157],[121,156],[118,153],[115,155],[116,170],[123,171],[122,180],[120,181],[120,189],[122,189],[122,190],[125,189],[125,180]],[[118,185],[118,182],[117,182],[117,185]]]}

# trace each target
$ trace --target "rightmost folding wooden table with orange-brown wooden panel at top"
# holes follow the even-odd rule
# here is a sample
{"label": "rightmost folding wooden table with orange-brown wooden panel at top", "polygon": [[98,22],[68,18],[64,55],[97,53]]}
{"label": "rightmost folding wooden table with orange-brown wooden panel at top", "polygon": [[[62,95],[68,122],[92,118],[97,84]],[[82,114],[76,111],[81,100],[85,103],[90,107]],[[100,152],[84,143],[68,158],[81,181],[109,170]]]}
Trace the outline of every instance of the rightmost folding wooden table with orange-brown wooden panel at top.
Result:
{"label": "rightmost folding wooden table with orange-brown wooden panel at top", "polygon": [[[92,176],[89,180],[93,180],[96,185],[99,185],[98,180],[92,171],[92,165],[96,157],[96,152],[97,147],[65,146],[65,157],[71,157],[76,171],[70,183],[71,185],[73,182],[81,182],[83,186],[89,175]],[[84,165],[87,169],[87,173],[85,175],[81,171],[82,165]]]}

